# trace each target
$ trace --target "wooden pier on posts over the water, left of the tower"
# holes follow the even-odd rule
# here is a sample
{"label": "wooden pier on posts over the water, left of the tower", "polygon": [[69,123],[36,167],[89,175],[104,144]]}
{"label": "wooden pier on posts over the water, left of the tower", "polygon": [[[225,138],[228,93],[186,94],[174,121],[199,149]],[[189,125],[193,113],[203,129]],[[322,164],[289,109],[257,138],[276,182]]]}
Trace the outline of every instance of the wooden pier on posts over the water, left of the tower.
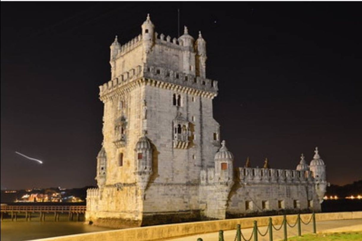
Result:
{"label": "wooden pier on posts over the water, left of the tower", "polygon": [[[17,221],[18,214],[24,213],[25,220],[30,221],[34,213],[39,213],[39,221],[45,221],[45,216],[54,215],[54,221],[59,221],[60,213],[68,213],[70,221],[80,221],[80,214],[85,214],[87,206],[1,206],[1,220],[4,219],[4,214],[9,214],[11,221]],[[76,219],[75,219],[76,217]]]}

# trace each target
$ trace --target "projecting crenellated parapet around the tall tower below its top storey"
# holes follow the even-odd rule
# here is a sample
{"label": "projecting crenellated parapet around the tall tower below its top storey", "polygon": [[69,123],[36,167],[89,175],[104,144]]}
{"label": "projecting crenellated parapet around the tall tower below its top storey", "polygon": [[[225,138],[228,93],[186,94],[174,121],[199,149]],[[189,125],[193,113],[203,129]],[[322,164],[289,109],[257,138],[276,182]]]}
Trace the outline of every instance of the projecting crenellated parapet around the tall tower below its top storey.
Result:
{"label": "projecting crenellated parapet around the tall tower below its top storey", "polygon": [[[218,81],[205,79],[199,76],[189,75],[186,73],[175,72],[173,70],[161,67],[154,67],[148,64],[138,65],[114,78],[113,80],[99,86],[100,97],[113,92],[114,90],[130,84],[139,78],[148,78],[152,80],[172,83],[178,86],[189,87],[194,89],[194,94],[205,94],[205,96],[215,97],[218,92]],[[185,88],[184,88],[185,89]]]}

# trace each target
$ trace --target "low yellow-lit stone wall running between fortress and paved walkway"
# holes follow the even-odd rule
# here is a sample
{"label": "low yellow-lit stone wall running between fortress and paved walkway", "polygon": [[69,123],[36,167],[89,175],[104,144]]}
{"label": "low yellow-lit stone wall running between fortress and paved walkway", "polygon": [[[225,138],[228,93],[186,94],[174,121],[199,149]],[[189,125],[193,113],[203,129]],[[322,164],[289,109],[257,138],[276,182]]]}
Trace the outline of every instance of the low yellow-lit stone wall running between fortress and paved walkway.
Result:
{"label": "low yellow-lit stone wall running between fortress and paved walkway", "polygon": [[[303,221],[308,221],[311,214],[300,215]],[[273,216],[273,224],[281,224],[283,216]],[[360,212],[334,212],[334,213],[317,213],[316,221],[323,220],[342,220],[342,219],[362,219]],[[173,238],[180,236],[189,236],[199,233],[218,232],[222,230],[235,229],[237,224],[243,228],[253,227],[253,221],[256,220],[258,225],[268,225],[269,217],[248,217],[243,219],[226,219],[214,221],[202,221],[194,223],[180,223],[157,225],[141,228],[129,228],[95,233],[75,234],[68,236],[42,238],[38,241],[150,241],[160,240],[163,238]],[[287,215],[287,221],[295,222],[296,215]]]}

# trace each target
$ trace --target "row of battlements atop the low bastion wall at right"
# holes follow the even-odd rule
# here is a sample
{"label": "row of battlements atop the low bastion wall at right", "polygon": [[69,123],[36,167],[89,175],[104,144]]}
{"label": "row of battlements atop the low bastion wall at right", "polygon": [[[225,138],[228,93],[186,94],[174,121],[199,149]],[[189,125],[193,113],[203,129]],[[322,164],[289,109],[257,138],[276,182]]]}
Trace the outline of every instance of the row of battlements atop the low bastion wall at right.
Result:
{"label": "row of battlements atop the low bastion wall at right", "polygon": [[271,168],[238,168],[238,178],[244,183],[301,183],[312,182],[310,171]]}

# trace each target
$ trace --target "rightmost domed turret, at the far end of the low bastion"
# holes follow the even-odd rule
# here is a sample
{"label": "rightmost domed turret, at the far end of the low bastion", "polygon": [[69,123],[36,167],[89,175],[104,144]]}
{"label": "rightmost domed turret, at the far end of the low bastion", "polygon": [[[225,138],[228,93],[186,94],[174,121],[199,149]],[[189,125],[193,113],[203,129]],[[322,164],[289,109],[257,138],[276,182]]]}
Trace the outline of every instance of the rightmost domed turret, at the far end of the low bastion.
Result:
{"label": "rightmost domed turret, at the far end of the low bastion", "polygon": [[318,153],[318,147],[314,151],[314,157],[311,161],[309,168],[315,180],[316,193],[318,195],[319,202],[323,202],[324,194],[327,190],[327,178],[325,174],[325,165]]}

